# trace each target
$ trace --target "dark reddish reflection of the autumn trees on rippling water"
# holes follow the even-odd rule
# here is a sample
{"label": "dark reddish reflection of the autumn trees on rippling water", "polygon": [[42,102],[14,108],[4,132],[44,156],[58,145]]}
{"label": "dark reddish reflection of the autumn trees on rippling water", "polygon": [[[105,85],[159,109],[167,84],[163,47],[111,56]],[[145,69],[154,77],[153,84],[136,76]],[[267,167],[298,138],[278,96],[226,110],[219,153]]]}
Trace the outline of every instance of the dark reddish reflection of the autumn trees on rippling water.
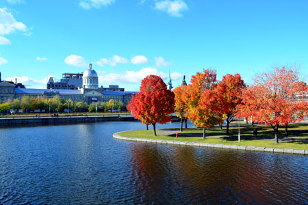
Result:
{"label": "dark reddish reflection of the autumn trees on rippling water", "polygon": [[298,178],[290,177],[293,163],[277,161],[279,154],[133,143],[130,156],[131,184],[143,202],[305,204],[308,200],[307,193],[303,197],[307,187],[293,187]]}

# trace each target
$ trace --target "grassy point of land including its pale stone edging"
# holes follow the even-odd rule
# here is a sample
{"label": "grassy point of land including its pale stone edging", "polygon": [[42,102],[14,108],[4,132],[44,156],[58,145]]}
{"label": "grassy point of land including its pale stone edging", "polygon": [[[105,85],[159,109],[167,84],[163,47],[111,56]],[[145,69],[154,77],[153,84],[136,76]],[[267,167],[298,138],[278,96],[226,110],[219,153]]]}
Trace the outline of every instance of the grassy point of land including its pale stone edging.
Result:
{"label": "grassy point of land including its pale stone edging", "polygon": [[157,136],[153,136],[153,131],[151,130],[142,130],[116,133],[114,137],[124,140],[185,146],[308,154],[308,126],[303,123],[290,124],[287,137],[285,137],[285,133],[281,129],[279,143],[275,143],[272,129],[264,125],[242,125],[240,128],[240,141],[238,141],[238,126],[230,127],[230,135],[224,134],[224,129],[214,127],[207,130],[207,136],[203,139],[202,128],[185,128],[183,132],[179,132],[179,128],[166,128],[159,129]]}

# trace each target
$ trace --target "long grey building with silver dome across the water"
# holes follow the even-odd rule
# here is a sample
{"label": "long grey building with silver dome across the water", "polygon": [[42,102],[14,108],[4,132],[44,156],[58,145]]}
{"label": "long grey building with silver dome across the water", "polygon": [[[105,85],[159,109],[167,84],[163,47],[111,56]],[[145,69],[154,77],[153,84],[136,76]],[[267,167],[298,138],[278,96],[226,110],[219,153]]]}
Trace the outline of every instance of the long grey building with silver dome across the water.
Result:
{"label": "long grey building with silver dome across the water", "polygon": [[[21,99],[23,96],[29,96],[29,98],[36,98],[39,96],[53,98],[58,95],[65,100],[71,99],[75,102],[84,100],[88,104],[100,101],[107,102],[113,99],[127,105],[131,100],[131,96],[136,94],[136,92],[125,92],[125,89],[118,87],[118,85],[99,87],[99,77],[97,76],[97,72],[92,69],[92,64],[89,65],[89,68],[83,74],[66,73],[66,75],[63,74],[62,77],[64,77],[64,79],[62,79],[64,81],[61,82],[55,82],[53,78],[49,78],[47,89],[29,89],[25,88],[21,83],[14,84],[11,81],[1,81],[0,100],[5,102],[14,100],[15,98]],[[69,81],[71,84],[68,84]],[[78,84],[79,81],[81,81],[81,85]],[[19,86],[19,84],[22,86]]]}

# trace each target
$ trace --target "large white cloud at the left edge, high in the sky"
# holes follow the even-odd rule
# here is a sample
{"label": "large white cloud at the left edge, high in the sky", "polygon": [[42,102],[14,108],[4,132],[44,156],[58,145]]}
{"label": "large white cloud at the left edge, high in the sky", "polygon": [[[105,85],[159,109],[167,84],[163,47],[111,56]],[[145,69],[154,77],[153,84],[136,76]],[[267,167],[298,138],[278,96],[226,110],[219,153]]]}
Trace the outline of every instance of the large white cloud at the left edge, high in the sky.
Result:
{"label": "large white cloud at the left edge, high in the sky", "polygon": [[10,34],[14,31],[27,31],[27,27],[15,20],[14,16],[7,12],[6,8],[0,8],[0,35]]}

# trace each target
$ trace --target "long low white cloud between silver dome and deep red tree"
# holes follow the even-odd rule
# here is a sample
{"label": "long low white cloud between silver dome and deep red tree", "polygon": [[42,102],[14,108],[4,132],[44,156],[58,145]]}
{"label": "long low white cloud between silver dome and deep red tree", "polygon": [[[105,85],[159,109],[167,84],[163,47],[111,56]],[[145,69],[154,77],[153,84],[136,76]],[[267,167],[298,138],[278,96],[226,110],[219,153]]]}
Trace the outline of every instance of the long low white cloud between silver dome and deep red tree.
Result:
{"label": "long low white cloud between silver dome and deep red tree", "polygon": [[[156,68],[142,68],[139,71],[128,70],[125,73],[109,73],[99,75],[100,83],[140,83],[144,77],[149,74],[155,74],[162,77],[162,79],[167,79],[169,74],[164,72],[159,72]],[[177,80],[183,77],[182,74],[173,72],[170,74],[171,79]]]}

